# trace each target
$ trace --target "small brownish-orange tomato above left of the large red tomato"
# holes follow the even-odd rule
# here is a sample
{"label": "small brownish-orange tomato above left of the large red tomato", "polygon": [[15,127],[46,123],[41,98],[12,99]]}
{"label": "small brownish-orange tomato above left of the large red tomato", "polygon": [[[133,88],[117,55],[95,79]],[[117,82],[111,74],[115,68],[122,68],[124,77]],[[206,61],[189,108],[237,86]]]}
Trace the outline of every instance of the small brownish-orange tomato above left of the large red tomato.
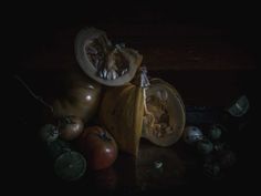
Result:
{"label": "small brownish-orange tomato above left of the large red tomato", "polygon": [[72,141],[81,135],[84,123],[77,116],[65,116],[59,120],[60,137],[64,141]]}

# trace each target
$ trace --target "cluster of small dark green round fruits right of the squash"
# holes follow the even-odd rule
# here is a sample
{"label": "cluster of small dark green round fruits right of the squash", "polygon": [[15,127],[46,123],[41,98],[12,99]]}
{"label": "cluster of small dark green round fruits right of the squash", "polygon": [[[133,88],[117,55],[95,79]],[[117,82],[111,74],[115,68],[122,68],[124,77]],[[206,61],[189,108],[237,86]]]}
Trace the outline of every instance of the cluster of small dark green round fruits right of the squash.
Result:
{"label": "cluster of small dark green round fruits right of the squash", "polygon": [[186,126],[184,141],[201,157],[206,177],[220,179],[236,163],[236,153],[225,138],[227,128],[221,124],[209,127]]}

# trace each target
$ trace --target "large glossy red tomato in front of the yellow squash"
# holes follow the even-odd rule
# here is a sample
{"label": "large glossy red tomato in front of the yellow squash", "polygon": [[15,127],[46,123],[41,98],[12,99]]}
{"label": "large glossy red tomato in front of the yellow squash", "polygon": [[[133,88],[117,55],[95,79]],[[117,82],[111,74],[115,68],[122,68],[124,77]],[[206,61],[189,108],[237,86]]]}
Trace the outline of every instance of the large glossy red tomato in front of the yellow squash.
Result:
{"label": "large glossy red tomato in front of the yellow squash", "polygon": [[95,171],[109,167],[117,157],[115,140],[100,126],[85,128],[79,140],[79,147],[87,158],[87,166]]}

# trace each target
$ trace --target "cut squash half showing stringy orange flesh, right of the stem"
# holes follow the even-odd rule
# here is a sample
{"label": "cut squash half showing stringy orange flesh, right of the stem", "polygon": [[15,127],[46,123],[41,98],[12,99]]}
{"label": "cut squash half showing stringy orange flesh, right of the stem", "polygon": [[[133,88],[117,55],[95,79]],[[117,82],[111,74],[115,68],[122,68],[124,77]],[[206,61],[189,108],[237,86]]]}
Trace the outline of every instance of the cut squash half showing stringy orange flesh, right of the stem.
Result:
{"label": "cut squash half showing stringy orange flesh, right of the stem", "polygon": [[186,122],[185,105],[178,91],[160,79],[152,79],[146,89],[142,137],[158,146],[179,141]]}

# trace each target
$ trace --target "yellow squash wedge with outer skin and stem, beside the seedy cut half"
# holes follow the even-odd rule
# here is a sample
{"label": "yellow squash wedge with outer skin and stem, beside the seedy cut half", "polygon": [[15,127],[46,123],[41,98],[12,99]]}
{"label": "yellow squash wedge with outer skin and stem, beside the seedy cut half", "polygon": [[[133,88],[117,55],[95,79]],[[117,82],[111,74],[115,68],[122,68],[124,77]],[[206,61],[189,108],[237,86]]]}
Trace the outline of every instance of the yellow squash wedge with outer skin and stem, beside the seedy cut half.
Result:
{"label": "yellow squash wedge with outer skin and stem, beside the seedy cut half", "polygon": [[135,84],[107,89],[100,122],[114,136],[122,152],[137,156],[144,116],[144,74],[142,68]]}

